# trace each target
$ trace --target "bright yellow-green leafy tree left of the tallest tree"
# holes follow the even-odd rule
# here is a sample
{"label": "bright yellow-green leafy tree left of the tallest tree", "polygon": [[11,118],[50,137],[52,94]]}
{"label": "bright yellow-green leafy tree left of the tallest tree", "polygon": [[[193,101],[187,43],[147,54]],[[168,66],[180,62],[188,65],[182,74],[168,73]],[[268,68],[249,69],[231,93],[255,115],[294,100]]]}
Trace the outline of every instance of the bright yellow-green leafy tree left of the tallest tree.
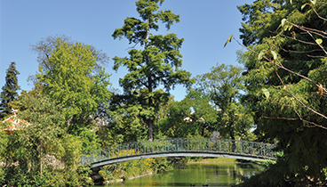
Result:
{"label": "bright yellow-green leafy tree left of the tallest tree", "polygon": [[68,131],[79,134],[84,126],[92,125],[92,115],[101,103],[110,98],[109,75],[104,69],[94,72],[96,57],[89,45],[68,45],[60,38],[48,63],[52,69],[45,72],[39,67],[39,82],[44,84],[44,93],[52,101],[62,104]]}

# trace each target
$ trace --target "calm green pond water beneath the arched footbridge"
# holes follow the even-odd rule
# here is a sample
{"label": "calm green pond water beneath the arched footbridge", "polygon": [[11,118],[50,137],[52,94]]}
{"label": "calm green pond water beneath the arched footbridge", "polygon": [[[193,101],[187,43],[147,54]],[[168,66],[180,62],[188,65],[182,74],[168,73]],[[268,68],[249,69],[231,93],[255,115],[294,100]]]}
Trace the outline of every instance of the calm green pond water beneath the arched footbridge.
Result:
{"label": "calm green pond water beneath the arched footbridge", "polygon": [[240,176],[255,175],[262,168],[250,163],[200,162],[175,167],[161,174],[143,176],[110,186],[231,186],[240,181]]}

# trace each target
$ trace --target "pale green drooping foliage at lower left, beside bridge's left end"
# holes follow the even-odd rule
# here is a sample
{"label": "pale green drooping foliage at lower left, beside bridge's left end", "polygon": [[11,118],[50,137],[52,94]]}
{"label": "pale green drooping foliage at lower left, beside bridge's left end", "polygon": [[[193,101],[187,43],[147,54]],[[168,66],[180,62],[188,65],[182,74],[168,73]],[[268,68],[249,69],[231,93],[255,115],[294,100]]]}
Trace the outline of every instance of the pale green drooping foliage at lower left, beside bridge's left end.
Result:
{"label": "pale green drooping foliage at lower left, beside bridge's left end", "polygon": [[[1,134],[0,183],[9,186],[81,186],[92,183],[88,167],[80,167],[82,147],[98,146],[92,132],[82,137],[64,134],[62,105],[37,93],[23,92],[13,103],[21,111],[18,118],[29,123],[12,135]],[[5,143],[5,144],[3,144]],[[49,162],[53,158],[55,162]]]}

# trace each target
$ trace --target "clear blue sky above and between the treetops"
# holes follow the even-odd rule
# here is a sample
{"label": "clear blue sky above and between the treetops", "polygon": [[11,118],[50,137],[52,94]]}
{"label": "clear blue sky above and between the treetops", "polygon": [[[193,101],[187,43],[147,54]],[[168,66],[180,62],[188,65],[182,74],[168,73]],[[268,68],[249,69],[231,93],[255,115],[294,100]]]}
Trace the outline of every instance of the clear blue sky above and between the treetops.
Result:
{"label": "clear blue sky above and between the treetops", "polygon": [[[0,87],[5,83],[5,71],[12,61],[20,71],[19,85],[22,90],[31,90],[29,75],[36,74],[36,53],[30,50],[44,37],[66,35],[73,40],[93,45],[110,57],[106,71],[110,81],[119,88],[119,77],[124,77],[124,67],[112,69],[111,58],[127,56],[126,39],[114,40],[111,35],[121,28],[126,17],[139,18],[135,0],[0,0]],[[230,35],[239,37],[242,15],[236,5],[251,4],[253,0],[166,0],[162,9],[180,15],[180,22],[159,28],[160,34],[175,33],[184,38],[180,53],[182,69],[192,77],[210,71],[219,64],[238,65],[236,51],[242,46],[232,42],[224,48]],[[186,94],[183,86],[171,91],[180,101]]]}

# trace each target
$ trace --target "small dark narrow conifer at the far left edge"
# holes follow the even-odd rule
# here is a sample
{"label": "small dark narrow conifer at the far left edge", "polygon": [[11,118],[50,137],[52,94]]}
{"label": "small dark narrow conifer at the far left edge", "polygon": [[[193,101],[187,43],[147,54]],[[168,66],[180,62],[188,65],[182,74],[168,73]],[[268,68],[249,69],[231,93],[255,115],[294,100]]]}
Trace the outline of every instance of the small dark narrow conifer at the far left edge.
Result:
{"label": "small dark narrow conifer at the far left edge", "polygon": [[16,69],[16,63],[12,61],[6,71],[5,84],[3,92],[1,92],[0,118],[4,118],[11,113],[8,103],[18,97],[17,91],[20,90],[20,86],[18,85],[17,75],[20,75],[20,72]]}

